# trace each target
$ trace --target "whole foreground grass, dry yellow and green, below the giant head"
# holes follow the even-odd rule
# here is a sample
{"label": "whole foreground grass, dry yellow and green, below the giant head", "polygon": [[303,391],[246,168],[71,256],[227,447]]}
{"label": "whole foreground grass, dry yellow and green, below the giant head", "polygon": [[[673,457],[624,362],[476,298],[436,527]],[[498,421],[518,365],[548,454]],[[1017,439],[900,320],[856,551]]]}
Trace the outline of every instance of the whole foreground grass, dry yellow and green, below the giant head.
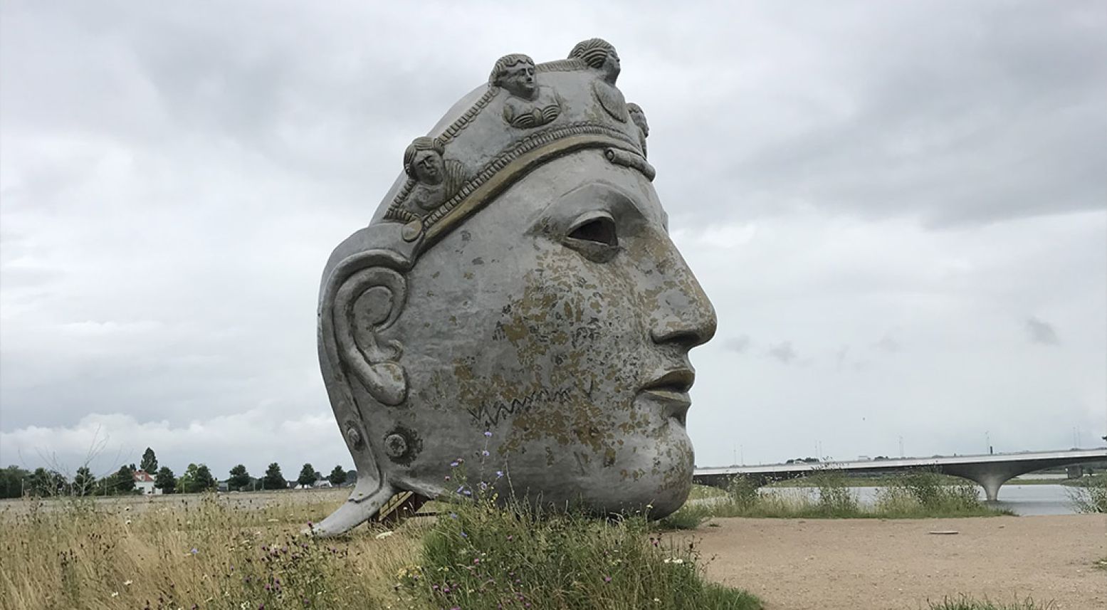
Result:
{"label": "whole foreground grass, dry yellow and green, below the giant head", "polygon": [[318,539],[300,531],[341,492],[251,496],[8,504],[0,609],[761,607],[704,581],[694,546],[674,546],[641,516],[511,511],[480,498],[391,531]]}

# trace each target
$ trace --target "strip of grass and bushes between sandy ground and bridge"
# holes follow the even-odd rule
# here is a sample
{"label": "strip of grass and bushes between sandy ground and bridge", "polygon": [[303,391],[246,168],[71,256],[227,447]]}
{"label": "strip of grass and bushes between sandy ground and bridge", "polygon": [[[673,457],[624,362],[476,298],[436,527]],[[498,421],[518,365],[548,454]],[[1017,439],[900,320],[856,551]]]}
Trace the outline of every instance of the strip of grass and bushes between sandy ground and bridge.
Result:
{"label": "strip of grass and bushes between sandy ground and bridge", "polygon": [[685,504],[664,519],[669,527],[690,529],[710,517],[753,518],[932,518],[1011,515],[982,503],[972,484],[953,484],[937,473],[900,475],[880,489],[872,506],[862,505],[849,488],[852,479],[838,471],[821,471],[807,479],[810,492],[763,489],[751,477],[731,479],[723,497]]}

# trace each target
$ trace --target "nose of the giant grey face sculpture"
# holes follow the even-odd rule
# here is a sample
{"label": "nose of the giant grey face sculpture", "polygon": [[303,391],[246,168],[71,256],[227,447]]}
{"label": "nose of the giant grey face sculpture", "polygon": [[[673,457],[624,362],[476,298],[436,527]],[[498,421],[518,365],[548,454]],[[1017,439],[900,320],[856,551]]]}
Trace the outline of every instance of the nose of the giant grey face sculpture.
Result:
{"label": "nose of the giant grey face sculpture", "polygon": [[669,252],[654,267],[654,285],[648,293],[655,293],[652,303],[650,338],[658,344],[680,344],[686,350],[702,345],[715,335],[718,319],[711,299],[692,275],[676,246],[669,245]]}

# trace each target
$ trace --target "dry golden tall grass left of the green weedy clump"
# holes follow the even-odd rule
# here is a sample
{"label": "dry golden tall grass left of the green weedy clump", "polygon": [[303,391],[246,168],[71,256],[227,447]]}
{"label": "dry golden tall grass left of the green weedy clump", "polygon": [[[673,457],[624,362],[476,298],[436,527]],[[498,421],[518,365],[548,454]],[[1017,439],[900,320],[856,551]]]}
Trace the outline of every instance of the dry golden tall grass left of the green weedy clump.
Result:
{"label": "dry golden tall grass left of the green weedy clump", "polygon": [[[374,608],[417,538],[328,541],[299,534],[341,502],[230,505],[30,502],[0,528],[0,608]],[[133,509],[132,509],[133,508]],[[406,607],[406,603],[405,606]]]}

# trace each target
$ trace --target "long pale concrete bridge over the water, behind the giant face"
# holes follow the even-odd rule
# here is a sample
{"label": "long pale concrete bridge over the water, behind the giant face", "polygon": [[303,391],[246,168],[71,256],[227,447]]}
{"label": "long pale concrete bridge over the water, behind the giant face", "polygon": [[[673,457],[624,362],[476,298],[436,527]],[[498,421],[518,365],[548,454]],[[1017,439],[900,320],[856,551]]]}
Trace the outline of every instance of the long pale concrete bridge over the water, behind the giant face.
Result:
{"label": "long pale concrete bridge over the water, behind the giant face", "polygon": [[764,485],[772,480],[796,478],[820,471],[878,474],[925,468],[968,478],[984,488],[989,500],[995,500],[1000,495],[1000,486],[1012,477],[1045,468],[1087,464],[1105,459],[1107,459],[1107,447],[1055,452],[955,455],[952,457],[899,457],[863,462],[796,462],[794,464],[696,468],[692,480],[700,485],[726,487],[731,478],[735,475],[751,477],[761,485]]}

